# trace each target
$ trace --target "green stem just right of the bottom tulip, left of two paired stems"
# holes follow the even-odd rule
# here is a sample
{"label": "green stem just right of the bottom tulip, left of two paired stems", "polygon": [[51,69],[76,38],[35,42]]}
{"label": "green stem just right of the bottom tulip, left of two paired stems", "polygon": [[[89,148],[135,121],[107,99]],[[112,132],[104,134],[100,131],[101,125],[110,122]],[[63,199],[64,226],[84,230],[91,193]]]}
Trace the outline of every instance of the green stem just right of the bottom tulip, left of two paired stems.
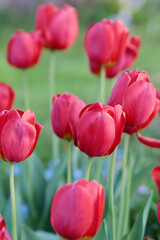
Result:
{"label": "green stem just right of the bottom tulip, left of two paired stems", "polygon": [[116,231],[115,231],[115,212],[114,212],[114,165],[115,165],[115,159],[116,159],[116,152],[117,149],[115,149],[111,163],[110,163],[110,171],[109,171],[109,209],[111,214],[111,224],[112,224],[112,240],[116,239]]}

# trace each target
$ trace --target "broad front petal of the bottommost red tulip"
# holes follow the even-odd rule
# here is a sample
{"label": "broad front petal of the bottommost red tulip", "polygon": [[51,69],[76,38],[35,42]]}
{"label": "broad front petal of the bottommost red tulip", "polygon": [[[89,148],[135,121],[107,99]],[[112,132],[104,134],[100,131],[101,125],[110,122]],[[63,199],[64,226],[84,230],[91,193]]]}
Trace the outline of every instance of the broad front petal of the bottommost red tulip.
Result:
{"label": "broad front petal of the bottommost red tulip", "polygon": [[82,186],[67,184],[55,194],[50,221],[54,230],[67,239],[79,239],[89,228],[93,217],[93,201]]}

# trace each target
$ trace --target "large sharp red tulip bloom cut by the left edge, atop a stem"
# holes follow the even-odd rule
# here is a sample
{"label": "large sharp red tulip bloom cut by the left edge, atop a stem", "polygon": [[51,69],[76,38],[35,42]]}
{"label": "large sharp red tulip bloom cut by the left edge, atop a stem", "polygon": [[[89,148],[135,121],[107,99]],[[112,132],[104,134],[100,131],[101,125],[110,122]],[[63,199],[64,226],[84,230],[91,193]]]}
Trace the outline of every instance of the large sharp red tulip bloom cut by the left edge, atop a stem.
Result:
{"label": "large sharp red tulip bloom cut by the left edge, atop a stem", "polygon": [[0,156],[8,162],[21,162],[28,158],[38,141],[43,127],[35,122],[31,110],[3,111],[0,113]]}

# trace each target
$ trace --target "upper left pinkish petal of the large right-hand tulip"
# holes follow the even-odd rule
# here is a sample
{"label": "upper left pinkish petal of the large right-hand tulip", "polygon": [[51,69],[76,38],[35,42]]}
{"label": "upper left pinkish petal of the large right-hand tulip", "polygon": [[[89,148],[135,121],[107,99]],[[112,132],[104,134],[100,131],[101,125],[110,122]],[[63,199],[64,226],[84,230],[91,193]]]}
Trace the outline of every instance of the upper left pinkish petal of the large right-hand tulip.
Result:
{"label": "upper left pinkish petal of the large right-hand tulip", "polygon": [[114,85],[106,104],[111,106],[122,104],[123,98],[127,93],[130,80],[131,78],[127,72],[122,73]]}

